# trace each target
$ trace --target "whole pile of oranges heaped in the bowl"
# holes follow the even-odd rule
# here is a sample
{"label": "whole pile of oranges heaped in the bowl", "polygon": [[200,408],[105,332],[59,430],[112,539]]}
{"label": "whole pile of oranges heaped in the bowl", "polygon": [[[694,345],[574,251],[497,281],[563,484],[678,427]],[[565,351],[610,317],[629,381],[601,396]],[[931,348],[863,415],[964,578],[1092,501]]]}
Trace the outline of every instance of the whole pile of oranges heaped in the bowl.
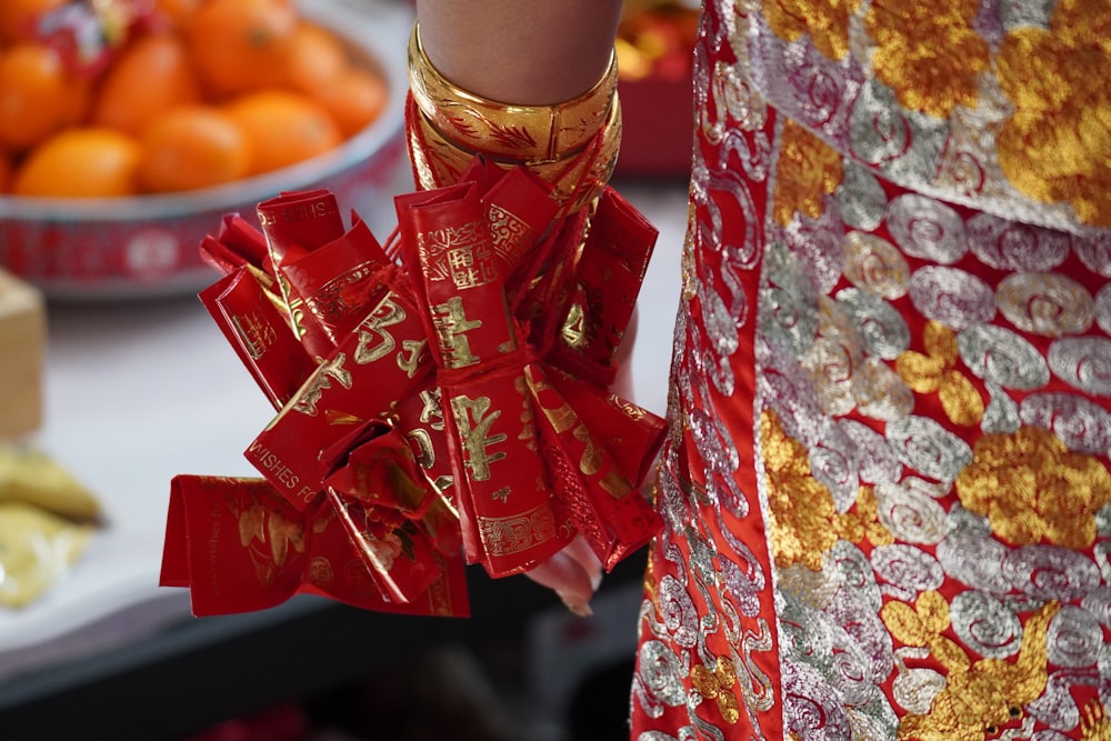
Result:
{"label": "whole pile of oranges heaped in the bowl", "polygon": [[0,193],[207,188],[321,154],[386,104],[381,76],[293,0],[116,1],[149,12],[90,71],[28,32],[71,0],[0,0]]}

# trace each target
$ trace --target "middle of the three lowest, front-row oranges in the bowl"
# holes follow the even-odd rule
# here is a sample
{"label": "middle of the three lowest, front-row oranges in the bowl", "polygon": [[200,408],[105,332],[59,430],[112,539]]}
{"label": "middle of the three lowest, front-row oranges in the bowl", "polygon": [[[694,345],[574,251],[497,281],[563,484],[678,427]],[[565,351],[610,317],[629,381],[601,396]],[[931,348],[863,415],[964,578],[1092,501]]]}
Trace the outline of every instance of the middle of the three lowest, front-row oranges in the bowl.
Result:
{"label": "middle of the three lowest, front-row oranges in the bowl", "polygon": [[217,108],[183,106],[151,119],[139,140],[139,187],[148,192],[208,188],[247,176],[250,142]]}

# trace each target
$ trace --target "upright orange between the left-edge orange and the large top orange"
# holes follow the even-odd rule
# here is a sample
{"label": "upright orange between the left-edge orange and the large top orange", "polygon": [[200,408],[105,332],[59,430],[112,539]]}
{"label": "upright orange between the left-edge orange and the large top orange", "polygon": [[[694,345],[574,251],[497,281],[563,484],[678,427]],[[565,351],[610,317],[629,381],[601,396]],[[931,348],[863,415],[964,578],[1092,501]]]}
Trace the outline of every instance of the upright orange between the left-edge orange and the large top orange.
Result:
{"label": "upright orange between the left-edge orange and the large top orange", "polygon": [[200,102],[201,87],[177,33],[144,33],[104,72],[92,123],[139,136],[159,111]]}

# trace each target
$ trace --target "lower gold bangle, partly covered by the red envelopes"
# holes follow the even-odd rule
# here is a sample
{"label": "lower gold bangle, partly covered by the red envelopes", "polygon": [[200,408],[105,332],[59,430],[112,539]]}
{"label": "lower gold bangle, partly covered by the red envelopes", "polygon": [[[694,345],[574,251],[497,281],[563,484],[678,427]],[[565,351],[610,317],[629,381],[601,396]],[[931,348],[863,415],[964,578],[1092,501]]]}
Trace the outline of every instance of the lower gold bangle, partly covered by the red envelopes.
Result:
{"label": "lower gold bangle, partly covered by the red envelopes", "polygon": [[504,167],[524,166],[552,186],[552,197],[571,213],[587,206],[605,188],[617,164],[621,144],[621,106],[617,99],[608,111],[602,128],[592,139],[569,156],[554,160],[521,162],[464,148],[444,137],[410,99],[408,143],[417,184],[423,189],[440,188],[457,182],[476,154]]}

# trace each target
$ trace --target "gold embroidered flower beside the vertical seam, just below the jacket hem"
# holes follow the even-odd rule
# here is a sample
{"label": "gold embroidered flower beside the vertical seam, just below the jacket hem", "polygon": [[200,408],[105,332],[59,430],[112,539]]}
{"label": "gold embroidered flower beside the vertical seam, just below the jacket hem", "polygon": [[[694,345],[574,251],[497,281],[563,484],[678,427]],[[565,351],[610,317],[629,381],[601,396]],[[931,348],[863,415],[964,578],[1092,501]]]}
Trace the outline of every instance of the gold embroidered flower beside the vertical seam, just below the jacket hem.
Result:
{"label": "gold embroidered flower beside the vertical seam, just below the jacket hem", "polygon": [[775,172],[775,222],[785,227],[795,212],[817,219],[822,214],[822,198],[837,190],[841,179],[841,158],[837,151],[787,119]]}

